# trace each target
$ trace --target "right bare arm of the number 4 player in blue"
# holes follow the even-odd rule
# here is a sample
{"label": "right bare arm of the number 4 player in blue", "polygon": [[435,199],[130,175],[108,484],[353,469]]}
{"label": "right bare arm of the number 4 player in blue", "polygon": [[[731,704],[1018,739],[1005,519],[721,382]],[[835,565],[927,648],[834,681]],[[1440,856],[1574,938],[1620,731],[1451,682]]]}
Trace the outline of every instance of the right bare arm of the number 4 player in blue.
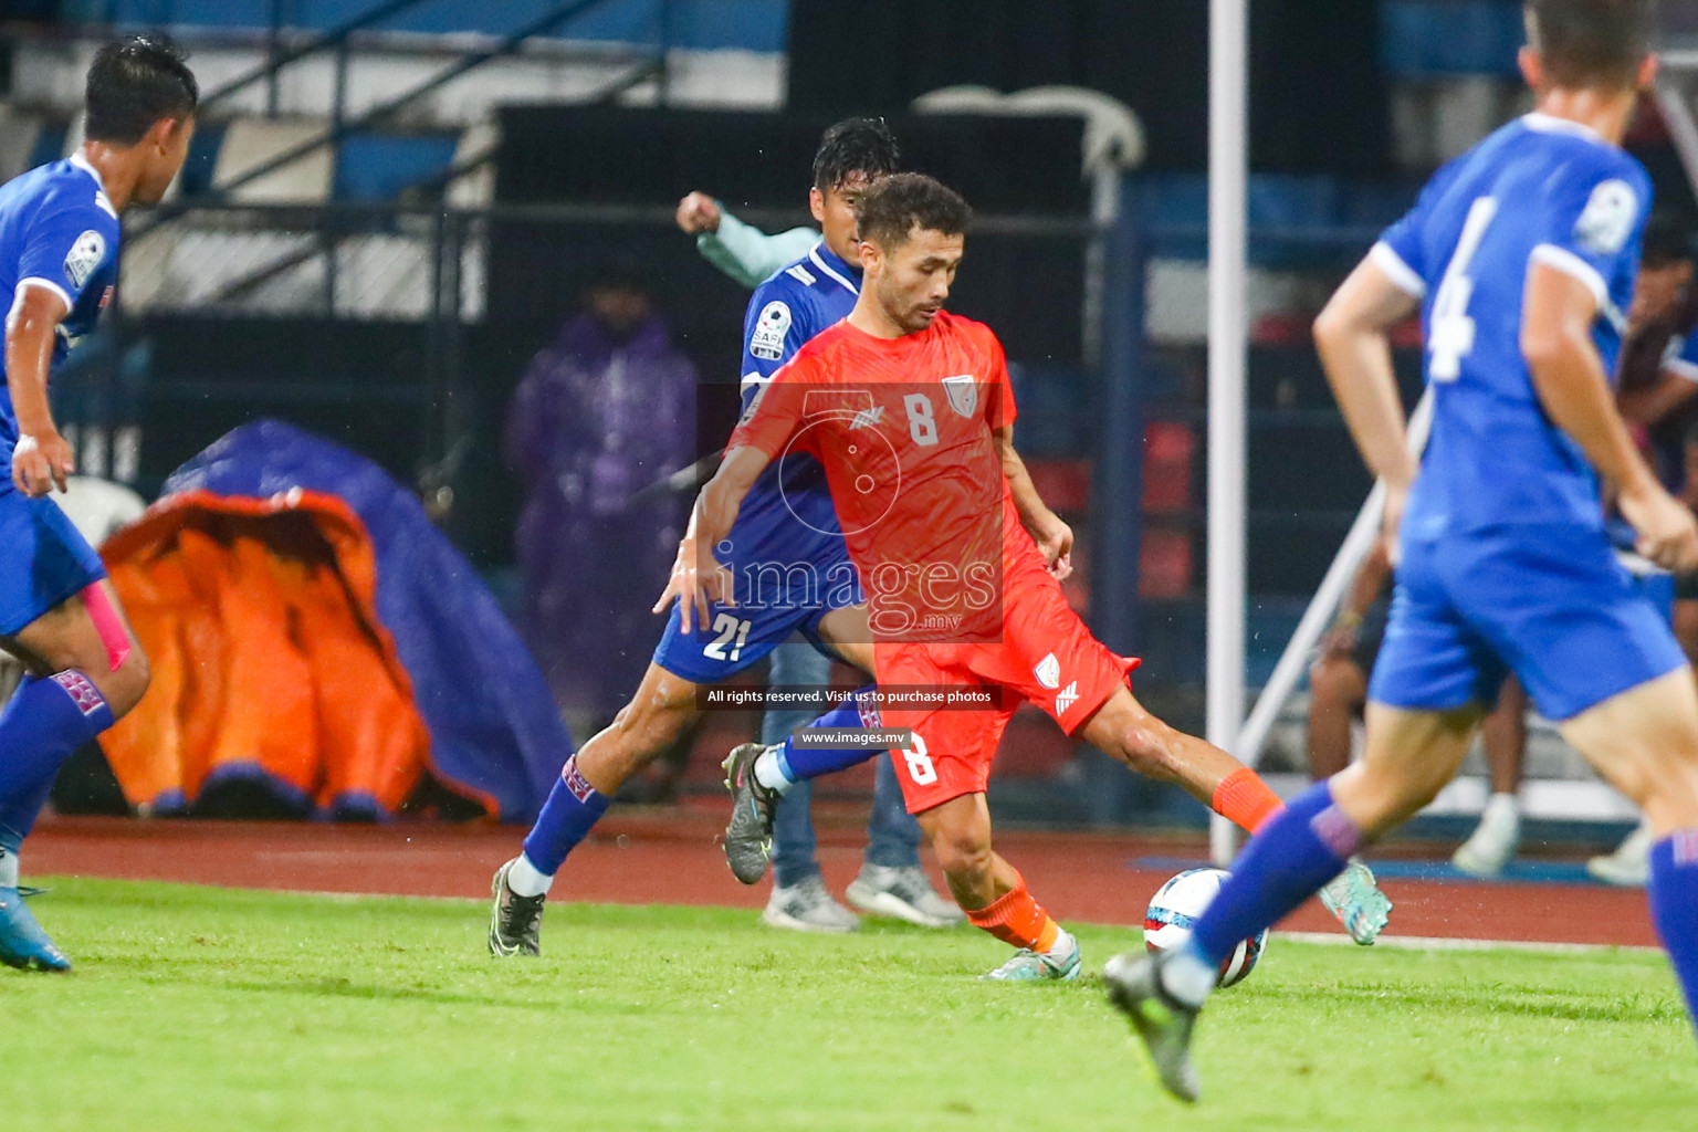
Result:
{"label": "right bare arm of the number 4 player in blue", "polygon": [[1533,263],[1521,307],[1521,355],[1533,375],[1533,392],[1550,419],[1586,451],[1620,496],[1622,514],[1639,531],[1639,553],[1657,565],[1698,569],[1698,524],[1633,445],[1615,411],[1603,358],[1593,345],[1598,297],[1567,272]]}

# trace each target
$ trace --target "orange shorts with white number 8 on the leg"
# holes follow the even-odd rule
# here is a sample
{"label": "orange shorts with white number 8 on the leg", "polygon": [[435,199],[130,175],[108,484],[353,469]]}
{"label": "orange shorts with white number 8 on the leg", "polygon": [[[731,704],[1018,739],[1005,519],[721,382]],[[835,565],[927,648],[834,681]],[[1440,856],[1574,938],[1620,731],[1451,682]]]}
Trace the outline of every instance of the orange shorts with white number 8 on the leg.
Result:
{"label": "orange shorts with white number 8 on the leg", "polygon": [[1022,699],[1073,735],[1139,664],[1092,636],[1048,574],[1009,579],[1000,642],[880,642],[874,662],[880,686],[1004,689],[993,709],[881,709],[883,726],[914,731],[912,747],[890,752],[908,813],[985,793],[997,743]]}

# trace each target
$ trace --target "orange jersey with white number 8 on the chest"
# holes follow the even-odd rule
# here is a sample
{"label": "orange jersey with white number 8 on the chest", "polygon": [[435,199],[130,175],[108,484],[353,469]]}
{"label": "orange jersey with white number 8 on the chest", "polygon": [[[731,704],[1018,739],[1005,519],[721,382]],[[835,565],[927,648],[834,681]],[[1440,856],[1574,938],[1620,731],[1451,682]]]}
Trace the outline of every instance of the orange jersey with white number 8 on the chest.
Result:
{"label": "orange jersey with white number 8 on the chest", "polygon": [[825,467],[876,636],[997,640],[1005,582],[1044,569],[992,436],[1014,416],[988,326],[939,312],[885,339],[842,321],[773,375],[730,448]]}

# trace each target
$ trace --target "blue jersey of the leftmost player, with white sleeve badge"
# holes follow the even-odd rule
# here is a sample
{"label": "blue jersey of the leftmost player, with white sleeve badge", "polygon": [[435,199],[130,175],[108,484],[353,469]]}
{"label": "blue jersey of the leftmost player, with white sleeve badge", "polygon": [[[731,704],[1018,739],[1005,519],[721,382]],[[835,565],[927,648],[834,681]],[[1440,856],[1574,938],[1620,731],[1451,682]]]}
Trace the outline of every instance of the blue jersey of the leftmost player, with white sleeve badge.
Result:
{"label": "blue jersey of the leftmost player, with white sleeve badge", "polygon": [[[42,287],[65,300],[70,314],[59,322],[54,365],[110,302],[117,241],[117,209],[82,154],[0,185],[0,295],[15,302],[25,287]],[[0,358],[0,378],[3,367]],[[10,453],[17,441],[10,392],[0,397],[0,436]]]}

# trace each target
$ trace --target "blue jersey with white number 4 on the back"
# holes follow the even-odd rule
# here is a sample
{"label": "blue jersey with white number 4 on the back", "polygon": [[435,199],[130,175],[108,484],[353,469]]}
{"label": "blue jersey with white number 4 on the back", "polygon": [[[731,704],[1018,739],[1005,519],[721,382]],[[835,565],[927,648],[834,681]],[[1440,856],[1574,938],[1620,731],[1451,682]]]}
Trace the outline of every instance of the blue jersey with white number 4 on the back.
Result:
{"label": "blue jersey with white number 4 on the back", "polygon": [[1535,263],[1586,283],[1613,373],[1649,210],[1639,161],[1583,126],[1528,114],[1442,170],[1384,234],[1375,263],[1423,297],[1435,397],[1404,536],[1601,526],[1598,477],[1545,416],[1521,356],[1521,294]]}

